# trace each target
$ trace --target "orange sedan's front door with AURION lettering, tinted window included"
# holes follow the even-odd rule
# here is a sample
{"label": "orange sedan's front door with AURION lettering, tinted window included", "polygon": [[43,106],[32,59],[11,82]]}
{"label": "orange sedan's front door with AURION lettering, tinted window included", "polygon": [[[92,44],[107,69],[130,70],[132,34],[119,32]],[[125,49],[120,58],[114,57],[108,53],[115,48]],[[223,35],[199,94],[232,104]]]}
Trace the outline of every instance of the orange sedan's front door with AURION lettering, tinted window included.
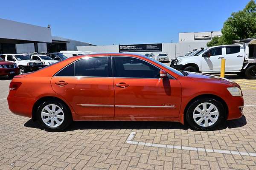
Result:
{"label": "orange sedan's front door with AURION lettering, tinted window included", "polygon": [[178,117],[180,82],[160,79],[160,69],[134,57],[112,57],[114,64],[115,116]]}

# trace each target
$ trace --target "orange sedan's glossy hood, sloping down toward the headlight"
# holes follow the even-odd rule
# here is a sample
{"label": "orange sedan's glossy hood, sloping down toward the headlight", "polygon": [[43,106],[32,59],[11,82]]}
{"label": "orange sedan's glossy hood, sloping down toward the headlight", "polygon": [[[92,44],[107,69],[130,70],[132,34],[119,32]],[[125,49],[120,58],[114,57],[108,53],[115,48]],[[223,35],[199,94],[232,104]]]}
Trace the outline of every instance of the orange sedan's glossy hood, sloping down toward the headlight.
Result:
{"label": "orange sedan's glossy hood, sloping down toward the headlight", "polygon": [[189,72],[186,71],[188,73],[188,75],[186,77],[189,77],[195,81],[212,81],[212,82],[218,82],[218,83],[224,83],[224,84],[232,84],[234,86],[240,87],[236,82],[230,80],[230,79],[226,79],[226,78],[222,78],[222,77],[218,77],[218,76],[214,76],[214,75],[209,75],[209,74],[203,74],[203,73],[194,73],[194,72]]}

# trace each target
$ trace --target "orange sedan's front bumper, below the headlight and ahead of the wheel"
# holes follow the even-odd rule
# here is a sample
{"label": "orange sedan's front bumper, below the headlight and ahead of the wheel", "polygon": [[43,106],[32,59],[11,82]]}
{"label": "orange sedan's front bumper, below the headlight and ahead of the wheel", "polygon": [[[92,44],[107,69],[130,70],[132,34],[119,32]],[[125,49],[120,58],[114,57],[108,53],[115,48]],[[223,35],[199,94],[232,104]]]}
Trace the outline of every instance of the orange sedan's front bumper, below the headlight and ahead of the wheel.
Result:
{"label": "orange sedan's front bumper, below the headlight and ahead of the wheel", "polygon": [[233,99],[226,100],[228,107],[227,120],[239,119],[243,116],[244,98],[242,96],[233,96]]}

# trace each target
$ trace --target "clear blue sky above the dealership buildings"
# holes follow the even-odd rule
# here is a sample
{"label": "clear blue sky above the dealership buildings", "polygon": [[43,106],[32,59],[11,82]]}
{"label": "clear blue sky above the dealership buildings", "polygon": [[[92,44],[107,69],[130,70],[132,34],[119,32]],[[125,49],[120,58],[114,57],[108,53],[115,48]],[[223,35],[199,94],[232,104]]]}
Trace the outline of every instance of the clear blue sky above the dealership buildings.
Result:
{"label": "clear blue sky above the dealership buildings", "polygon": [[178,42],[179,32],[219,31],[249,0],[3,0],[0,18],[96,45]]}

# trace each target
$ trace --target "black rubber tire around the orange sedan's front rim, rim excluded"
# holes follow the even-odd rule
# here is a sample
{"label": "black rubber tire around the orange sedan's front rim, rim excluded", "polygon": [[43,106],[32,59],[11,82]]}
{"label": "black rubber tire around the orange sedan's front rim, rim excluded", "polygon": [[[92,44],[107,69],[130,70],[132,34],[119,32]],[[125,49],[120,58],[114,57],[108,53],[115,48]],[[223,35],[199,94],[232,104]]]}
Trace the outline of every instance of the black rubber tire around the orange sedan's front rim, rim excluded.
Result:
{"label": "black rubber tire around the orange sedan's front rim, rim excluded", "polygon": [[[216,108],[218,109],[218,113],[219,113],[217,121],[208,127],[203,127],[203,125],[202,126],[198,125],[193,118],[193,113],[194,113],[195,108],[204,102],[211,103],[211,104],[215,105]],[[207,113],[206,113],[205,116],[209,116],[209,115],[207,115]],[[214,130],[214,129],[216,129],[216,127],[218,127],[218,125],[220,125],[220,123],[224,120],[224,118],[225,118],[225,109],[224,109],[223,105],[221,104],[221,102],[218,102],[217,100],[211,99],[211,98],[199,98],[199,99],[195,100],[195,102],[193,102],[189,106],[189,108],[186,112],[186,122],[189,124],[190,128],[193,130],[201,130],[201,131]],[[203,120],[202,122],[204,122],[204,121],[205,120]]]}

